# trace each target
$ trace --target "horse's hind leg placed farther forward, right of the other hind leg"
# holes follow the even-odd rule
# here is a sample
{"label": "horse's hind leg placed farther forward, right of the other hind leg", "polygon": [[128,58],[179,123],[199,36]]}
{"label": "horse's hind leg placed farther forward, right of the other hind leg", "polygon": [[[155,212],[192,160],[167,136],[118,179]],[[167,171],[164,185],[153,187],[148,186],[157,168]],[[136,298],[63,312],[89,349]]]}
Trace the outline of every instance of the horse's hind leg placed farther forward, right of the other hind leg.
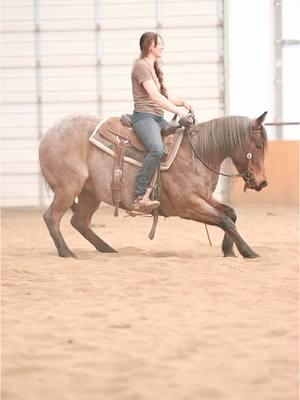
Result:
{"label": "horse's hind leg placed farther forward, right of the other hind leg", "polygon": [[92,216],[100,202],[101,200],[98,200],[92,193],[83,190],[78,196],[78,203],[72,207],[74,214],[71,218],[71,224],[101,253],[116,253],[116,250],[97,236],[90,227]]}

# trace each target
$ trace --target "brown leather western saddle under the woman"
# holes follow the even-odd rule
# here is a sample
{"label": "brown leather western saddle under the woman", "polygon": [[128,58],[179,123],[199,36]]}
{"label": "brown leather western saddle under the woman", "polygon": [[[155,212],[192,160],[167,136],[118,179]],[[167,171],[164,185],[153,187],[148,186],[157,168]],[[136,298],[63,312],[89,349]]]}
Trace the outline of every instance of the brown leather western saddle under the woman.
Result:
{"label": "brown leather western saddle under the woman", "polygon": [[[176,123],[176,115],[173,119],[166,124],[162,130],[162,136],[168,136],[175,133],[176,129],[179,127]],[[139,151],[144,153],[147,149],[134,133],[131,124],[131,115],[124,114],[119,117],[111,117],[101,124],[99,127],[99,135],[106,139],[108,142],[114,145],[114,169],[113,169],[113,179],[112,179],[112,194],[113,201],[115,205],[114,215],[118,216],[118,208],[123,200],[123,164],[124,164],[124,154],[127,147],[134,147]],[[151,182],[151,189],[154,183]]]}

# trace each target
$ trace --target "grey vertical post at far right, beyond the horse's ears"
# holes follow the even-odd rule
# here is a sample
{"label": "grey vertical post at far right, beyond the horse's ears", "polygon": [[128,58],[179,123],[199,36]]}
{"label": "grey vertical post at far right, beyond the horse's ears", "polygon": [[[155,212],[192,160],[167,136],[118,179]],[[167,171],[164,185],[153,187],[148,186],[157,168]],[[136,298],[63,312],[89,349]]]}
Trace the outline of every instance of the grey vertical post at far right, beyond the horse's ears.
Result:
{"label": "grey vertical post at far right, beyond the horse's ears", "polygon": [[[275,50],[275,71],[274,71],[274,84],[275,84],[275,121],[281,122],[283,118],[282,110],[282,1],[274,1],[274,50]],[[276,128],[276,139],[281,140],[282,127]]]}

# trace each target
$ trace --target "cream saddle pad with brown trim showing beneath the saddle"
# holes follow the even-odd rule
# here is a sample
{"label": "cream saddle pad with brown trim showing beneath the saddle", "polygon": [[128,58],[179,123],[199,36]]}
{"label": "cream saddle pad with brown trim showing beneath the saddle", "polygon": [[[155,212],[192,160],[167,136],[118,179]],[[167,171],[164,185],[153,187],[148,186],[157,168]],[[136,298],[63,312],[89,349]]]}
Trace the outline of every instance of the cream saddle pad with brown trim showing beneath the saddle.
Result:
{"label": "cream saddle pad with brown trim showing beneath the saddle", "polygon": [[[115,156],[114,145],[112,145],[108,140],[104,139],[99,133],[99,128],[101,127],[102,124],[105,124],[106,121],[107,120],[101,121],[96,126],[96,128],[94,129],[93,133],[91,134],[91,136],[89,138],[89,141],[92,144],[94,144],[96,147],[98,147],[99,149],[103,150],[105,153],[110,154],[112,157],[114,157]],[[166,171],[172,165],[172,163],[176,157],[176,154],[178,152],[180,143],[182,141],[182,137],[183,137],[183,129],[178,128],[175,133],[163,138],[165,147],[168,148],[168,153],[164,156],[164,158],[162,159],[162,161],[160,163],[161,171]],[[136,150],[136,151],[138,151],[138,150]],[[132,158],[134,152],[131,152],[131,153],[132,153],[132,156],[130,156],[130,157],[128,155],[124,156],[124,161],[129,164],[133,164],[137,167],[141,167],[142,166],[141,154],[143,155],[143,158],[144,158],[146,153],[139,152],[140,156],[137,157],[138,159]]]}

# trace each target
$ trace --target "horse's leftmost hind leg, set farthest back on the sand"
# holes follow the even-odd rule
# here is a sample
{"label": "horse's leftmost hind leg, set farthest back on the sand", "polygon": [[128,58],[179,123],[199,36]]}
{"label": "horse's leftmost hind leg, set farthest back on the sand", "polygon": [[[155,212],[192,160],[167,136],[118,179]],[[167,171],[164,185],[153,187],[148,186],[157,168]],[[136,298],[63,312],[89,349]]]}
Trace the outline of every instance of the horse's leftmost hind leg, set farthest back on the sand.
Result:
{"label": "horse's leftmost hind leg, set farthest back on the sand", "polygon": [[54,193],[54,199],[48,210],[44,213],[44,221],[57,248],[60,257],[74,257],[75,254],[68,248],[60,232],[60,221],[64,213],[70,208],[76,195],[71,195],[61,189]]}

